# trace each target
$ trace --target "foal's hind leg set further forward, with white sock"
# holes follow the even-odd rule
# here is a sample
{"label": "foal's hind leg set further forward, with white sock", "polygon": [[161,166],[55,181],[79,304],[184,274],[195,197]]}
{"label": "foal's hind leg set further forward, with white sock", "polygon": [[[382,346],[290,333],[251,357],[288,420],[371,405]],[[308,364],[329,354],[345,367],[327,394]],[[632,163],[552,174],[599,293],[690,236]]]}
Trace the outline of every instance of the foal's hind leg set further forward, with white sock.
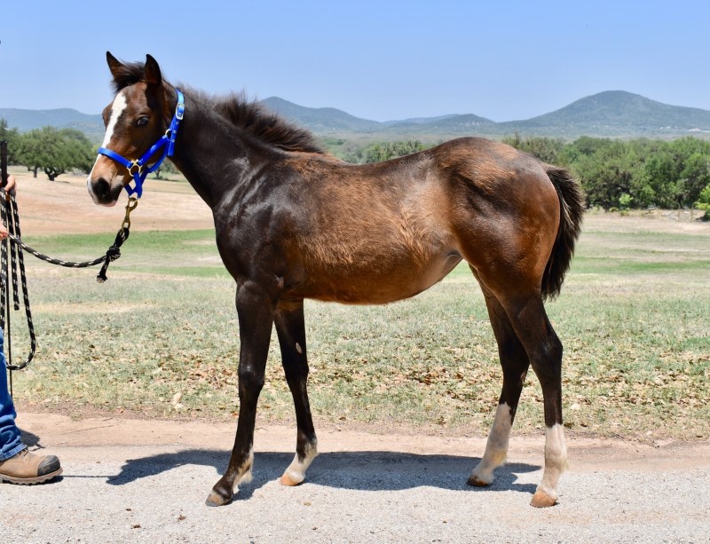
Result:
{"label": "foal's hind leg set further forward, with white sock", "polygon": [[[476,273],[476,272],[474,272]],[[493,293],[481,286],[485,295],[488,317],[498,343],[498,355],[503,370],[503,385],[493,427],[485,444],[485,453],[471,472],[469,485],[485,486],[493,483],[493,471],[500,467],[508,455],[510,430],[515,419],[520,393],[530,361],[523,344],[510,324],[505,310]]]}

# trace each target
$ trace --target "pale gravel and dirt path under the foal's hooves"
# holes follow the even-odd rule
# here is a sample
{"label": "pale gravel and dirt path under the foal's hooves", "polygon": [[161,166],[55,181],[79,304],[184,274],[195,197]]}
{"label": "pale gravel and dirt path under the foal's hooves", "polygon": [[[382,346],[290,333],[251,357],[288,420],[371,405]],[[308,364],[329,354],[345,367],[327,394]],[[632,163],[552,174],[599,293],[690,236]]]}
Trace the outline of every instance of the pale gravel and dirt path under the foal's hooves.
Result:
{"label": "pale gravel and dirt path under the foal's hooves", "polygon": [[710,541],[710,445],[569,441],[553,509],[528,506],[542,438],[515,437],[493,487],[465,485],[483,438],[378,435],[330,427],[304,485],[276,479],[295,430],[260,426],[255,479],[209,509],[233,423],[20,414],[57,483],[0,485],[0,541],[564,542]]}

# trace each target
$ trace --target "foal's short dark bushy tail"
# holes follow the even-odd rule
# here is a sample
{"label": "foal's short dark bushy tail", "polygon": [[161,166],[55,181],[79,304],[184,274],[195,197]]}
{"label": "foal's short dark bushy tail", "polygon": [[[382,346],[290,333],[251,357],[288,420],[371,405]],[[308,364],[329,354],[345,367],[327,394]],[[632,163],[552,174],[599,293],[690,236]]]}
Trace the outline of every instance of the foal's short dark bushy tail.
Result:
{"label": "foal's short dark bushy tail", "polygon": [[574,244],[580,237],[584,214],[584,192],[580,183],[567,170],[551,164],[544,164],[543,167],[552,185],[555,185],[560,200],[560,226],[557,239],[542,275],[542,296],[547,299],[556,298],[560,294],[564,275],[570,268]]}

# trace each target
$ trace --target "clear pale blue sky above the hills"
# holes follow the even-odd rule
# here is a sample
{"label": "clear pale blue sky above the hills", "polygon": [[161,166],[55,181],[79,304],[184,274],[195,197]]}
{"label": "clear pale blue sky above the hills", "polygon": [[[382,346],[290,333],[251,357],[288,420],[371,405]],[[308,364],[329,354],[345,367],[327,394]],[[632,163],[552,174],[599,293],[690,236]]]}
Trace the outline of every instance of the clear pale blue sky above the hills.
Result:
{"label": "clear pale blue sky above the hills", "polygon": [[600,91],[710,110],[710,2],[4,1],[0,107],[111,99],[105,52],[173,83],[385,121],[526,119]]}

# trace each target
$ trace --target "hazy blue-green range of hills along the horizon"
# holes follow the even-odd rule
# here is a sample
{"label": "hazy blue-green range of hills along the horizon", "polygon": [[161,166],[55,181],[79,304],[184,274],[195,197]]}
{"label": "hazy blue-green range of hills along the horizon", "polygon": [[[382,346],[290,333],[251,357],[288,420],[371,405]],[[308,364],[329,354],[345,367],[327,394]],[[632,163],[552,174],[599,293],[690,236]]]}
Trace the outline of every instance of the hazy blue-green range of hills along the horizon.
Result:
{"label": "hazy blue-green range of hills along the horizon", "polygon": [[[710,133],[710,111],[668,106],[626,91],[605,91],[579,99],[569,106],[532,119],[493,122],[475,114],[448,114],[377,122],[361,119],[334,107],[298,106],[278,97],[261,102],[272,111],[312,130],[319,136],[367,139],[446,139],[462,135],[501,138],[515,132],[522,136],[578,138],[676,138]],[[187,113],[189,114],[189,112]],[[26,110],[0,108],[0,118],[21,131],[45,125],[83,130],[93,141],[103,137],[99,114],[74,109]]]}

